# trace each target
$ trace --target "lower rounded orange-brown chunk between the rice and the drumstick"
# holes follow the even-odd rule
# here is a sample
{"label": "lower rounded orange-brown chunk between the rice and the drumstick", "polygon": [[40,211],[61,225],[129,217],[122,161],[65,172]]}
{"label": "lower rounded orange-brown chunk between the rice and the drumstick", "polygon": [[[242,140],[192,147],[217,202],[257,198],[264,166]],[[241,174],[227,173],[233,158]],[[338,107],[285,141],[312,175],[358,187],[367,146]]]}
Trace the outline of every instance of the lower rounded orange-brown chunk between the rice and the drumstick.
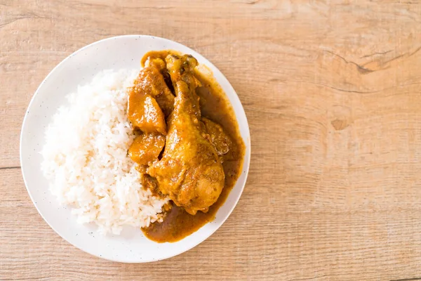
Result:
{"label": "lower rounded orange-brown chunk between the rice and the drumstick", "polygon": [[142,133],[128,148],[128,156],[140,165],[149,165],[158,159],[164,145],[165,136],[161,133]]}

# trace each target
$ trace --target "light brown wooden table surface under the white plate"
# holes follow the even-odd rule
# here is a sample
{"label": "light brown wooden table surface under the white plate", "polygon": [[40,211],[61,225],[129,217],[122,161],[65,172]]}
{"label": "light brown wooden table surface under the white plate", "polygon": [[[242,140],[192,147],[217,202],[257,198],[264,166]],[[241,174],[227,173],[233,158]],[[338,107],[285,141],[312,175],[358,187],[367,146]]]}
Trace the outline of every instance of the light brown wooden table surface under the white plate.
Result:
{"label": "light brown wooden table surface under the white plate", "polygon": [[[0,0],[0,280],[421,280],[421,4],[350,2]],[[156,263],[68,244],[20,173],[36,87],[73,51],[119,34],[199,51],[250,123],[233,214]]]}

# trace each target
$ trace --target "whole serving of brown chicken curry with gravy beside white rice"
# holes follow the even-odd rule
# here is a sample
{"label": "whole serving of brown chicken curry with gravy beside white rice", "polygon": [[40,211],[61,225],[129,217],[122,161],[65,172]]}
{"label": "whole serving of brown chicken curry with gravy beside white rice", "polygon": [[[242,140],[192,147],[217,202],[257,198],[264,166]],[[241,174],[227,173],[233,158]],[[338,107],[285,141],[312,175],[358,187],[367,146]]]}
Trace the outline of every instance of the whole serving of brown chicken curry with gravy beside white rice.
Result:
{"label": "whole serving of brown chicken curry with gravy beside white rice", "polygon": [[167,196],[162,222],[143,232],[175,242],[212,221],[241,173],[245,146],[229,101],[192,55],[152,51],[129,91],[136,138],[128,155],[140,181]]}

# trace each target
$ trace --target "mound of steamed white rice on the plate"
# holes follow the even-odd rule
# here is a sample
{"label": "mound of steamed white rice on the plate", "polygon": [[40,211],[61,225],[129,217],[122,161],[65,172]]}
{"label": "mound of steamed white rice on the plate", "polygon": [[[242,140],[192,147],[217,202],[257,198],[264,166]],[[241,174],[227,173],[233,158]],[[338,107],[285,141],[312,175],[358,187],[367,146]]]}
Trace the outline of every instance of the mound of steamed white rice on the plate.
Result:
{"label": "mound of steamed white rice on the plate", "polygon": [[41,169],[51,193],[72,207],[79,223],[102,234],[161,220],[163,200],[142,189],[127,156],[134,135],[127,119],[127,88],[136,70],[105,70],[67,96],[46,129]]}

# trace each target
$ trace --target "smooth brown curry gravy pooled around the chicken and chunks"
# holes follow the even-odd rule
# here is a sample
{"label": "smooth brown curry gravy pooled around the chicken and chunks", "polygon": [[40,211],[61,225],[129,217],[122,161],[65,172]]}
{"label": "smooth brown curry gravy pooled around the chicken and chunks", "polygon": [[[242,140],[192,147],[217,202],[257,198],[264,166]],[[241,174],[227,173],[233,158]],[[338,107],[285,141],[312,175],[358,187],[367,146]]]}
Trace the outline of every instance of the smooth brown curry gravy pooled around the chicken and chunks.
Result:
{"label": "smooth brown curry gravy pooled around the chicken and chunks", "polygon": [[[171,51],[175,53],[174,51]],[[142,67],[148,57],[165,58],[169,51],[152,51],[147,53],[141,61]],[[206,68],[206,67],[205,67]],[[209,73],[205,73],[209,72]],[[162,223],[152,223],[149,228],[142,228],[143,233],[155,242],[176,242],[199,230],[206,223],[213,221],[218,209],[224,204],[229,192],[234,187],[241,174],[245,145],[241,138],[239,126],[236,122],[234,110],[220,85],[213,78],[210,70],[196,71],[196,79],[202,86],[196,89],[200,97],[201,114],[203,117],[222,126],[225,132],[232,138],[232,147],[227,155],[223,156],[222,166],[225,172],[225,186],[218,201],[215,202],[207,213],[198,211],[196,215],[188,214],[182,207],[173,204],[166,212]]]}

